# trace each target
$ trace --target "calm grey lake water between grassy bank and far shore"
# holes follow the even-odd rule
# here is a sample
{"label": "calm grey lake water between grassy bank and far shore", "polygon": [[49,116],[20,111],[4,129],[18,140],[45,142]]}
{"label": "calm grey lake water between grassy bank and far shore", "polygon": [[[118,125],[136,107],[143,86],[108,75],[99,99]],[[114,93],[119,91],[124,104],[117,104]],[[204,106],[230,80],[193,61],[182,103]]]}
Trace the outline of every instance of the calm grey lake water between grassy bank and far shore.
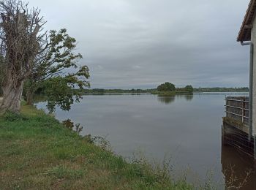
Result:
{"label": "calm grey lake water between grassy bank and far shore", "polygon": [[[231,175],[238,177],[238,186],[248,169],[255,171],[252,160],[234,148],[222,147],[222,117],[228,95],[89,95],[69,112],[57,109],[56,118],[81,123],[84,135],[106,137],[113,151],[126,158],[136,152],[143,152],[148,160],[171,158],[174,172],[186,170],[190,181],[204,182],[212,173],[211,178],[222,189]],[[45,103],[37,107],[45,108]],[[243,189],[256,189],[255,179],[252,173]]]}

